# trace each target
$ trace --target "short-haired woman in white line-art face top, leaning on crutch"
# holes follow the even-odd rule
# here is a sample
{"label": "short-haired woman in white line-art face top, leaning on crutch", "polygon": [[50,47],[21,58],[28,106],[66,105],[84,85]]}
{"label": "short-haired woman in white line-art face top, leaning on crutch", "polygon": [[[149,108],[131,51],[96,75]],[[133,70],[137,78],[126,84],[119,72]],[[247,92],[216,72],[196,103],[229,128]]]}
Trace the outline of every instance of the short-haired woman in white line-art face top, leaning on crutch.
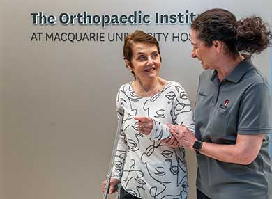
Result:
{"label": "short-haired woman in white line-art face top, leaning on crutch", "polygon": [[[186,92],[179,83],[159,77],[160,47],[151,35],[142,31],[128,35],[123,57],[135,79],[117,94],[124,119],[109,193],[121,182],[121,198],[187,198],[184,149],[170,138],[166,125],[183,123],[195,129]],[[102,191],[104,187],[105,182]]]}

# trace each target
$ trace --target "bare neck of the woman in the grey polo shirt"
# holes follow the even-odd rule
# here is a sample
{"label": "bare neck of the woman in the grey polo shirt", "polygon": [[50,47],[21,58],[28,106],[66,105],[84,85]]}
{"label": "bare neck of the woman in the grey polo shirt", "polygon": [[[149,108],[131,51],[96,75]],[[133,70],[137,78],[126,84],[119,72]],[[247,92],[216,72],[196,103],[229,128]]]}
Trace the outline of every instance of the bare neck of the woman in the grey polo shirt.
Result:
{"label": "bare neck of the woman in the grey polo shirt", "polygon": [[234,68],[241,63],[245,58],[239,54],[237,58],[220,58],[220,62],[218,62],[218,67],[216,70],[218,72],[218,79],[222,81],[225,79]]}

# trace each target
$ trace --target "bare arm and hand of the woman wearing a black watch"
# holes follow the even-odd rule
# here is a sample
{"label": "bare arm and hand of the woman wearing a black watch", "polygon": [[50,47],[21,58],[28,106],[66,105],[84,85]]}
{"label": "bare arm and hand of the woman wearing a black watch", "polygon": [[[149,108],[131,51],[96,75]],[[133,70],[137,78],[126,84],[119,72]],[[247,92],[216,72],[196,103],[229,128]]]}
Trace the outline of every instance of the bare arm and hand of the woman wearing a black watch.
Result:
{"label": "bare arm and hand of the woman wearing a black watch", "polygon": [[[168,126],[170,127],[171,134],[179,141],[180,145],[194,150],[192,145],[197,141],[195,134],[183,125]],[[202,148],[199,150],[199,153],[219,161],[245,165],[250,164],[259,154],[263,136],[263,134],[237,134],[234,145],[202,142]]]}

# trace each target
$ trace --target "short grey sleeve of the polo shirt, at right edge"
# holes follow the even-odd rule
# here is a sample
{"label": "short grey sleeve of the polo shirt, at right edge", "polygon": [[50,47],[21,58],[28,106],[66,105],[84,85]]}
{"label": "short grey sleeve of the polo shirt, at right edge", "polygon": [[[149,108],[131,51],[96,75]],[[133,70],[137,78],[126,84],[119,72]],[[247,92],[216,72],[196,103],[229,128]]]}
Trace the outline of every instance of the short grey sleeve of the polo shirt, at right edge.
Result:
{"label": "short grey sleeve of the polo shirt, at right edge", "polygon": [[267,83],[256,83],[245,91],[237,133],[271,134],[271,96]]}

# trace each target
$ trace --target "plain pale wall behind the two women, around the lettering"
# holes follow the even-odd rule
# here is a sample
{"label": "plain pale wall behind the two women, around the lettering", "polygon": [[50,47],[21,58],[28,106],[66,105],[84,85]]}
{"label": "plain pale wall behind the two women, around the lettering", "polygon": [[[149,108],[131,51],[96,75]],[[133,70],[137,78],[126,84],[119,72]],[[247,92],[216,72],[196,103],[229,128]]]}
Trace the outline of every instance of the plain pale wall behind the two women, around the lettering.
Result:
{"label": "plain pale wall behind the two women, around the lettering", "polygon": [[[2,1],[1,1],[2,3]],[[262,1],[14,1],[4,0],[0,31],[0,125],[4,143],[4,199],[100,198],[116,132],[116,91],[133,78],[123,64],[123,42],[31,42],[33,32],[105,31],[178,33],[188,26],[33,26],[31,12],[110,14],[200,13],[213,7],[243,17],[270,19]],[[270,3],[271,4],[271,3]],[[243,5],[243,6],[241,6]],[[167,10],[166,10],[167,8]],[[1,17],[2,19],[2,17]],[[190,58],[190,42],[160,42],[161,77],[179,81],[195,102],[201,65]],[[254,58],[269,74],[269,51]],[[2,111],[3,109],[3,111]],[[4,124],[4,125],[3,125]],[[195,154],[187,153],[190,198],[195,198]],[[0,159],[1,161],[1,159]],[[1,161],[2,162],[2,161]],[[3,174],[2,174],[3,175]],[[0,194],[3,193],[0,191]],[[1,198],[1,195],[0,195]]]}

